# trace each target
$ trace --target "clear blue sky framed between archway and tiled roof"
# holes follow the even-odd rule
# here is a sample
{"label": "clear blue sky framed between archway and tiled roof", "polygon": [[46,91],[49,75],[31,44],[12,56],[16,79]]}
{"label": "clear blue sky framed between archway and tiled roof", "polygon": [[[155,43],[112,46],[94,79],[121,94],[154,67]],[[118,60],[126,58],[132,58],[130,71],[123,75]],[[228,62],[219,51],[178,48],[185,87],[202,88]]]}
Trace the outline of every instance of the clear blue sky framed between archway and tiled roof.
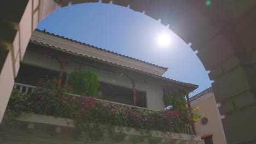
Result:
{"label": "clear blue sky framed between archway and tiled roof", "polygon": [[[211,87],[209,71],[190,44],[159,21],[129,8],[104,3],[69,5],[45,17],[37,28],[167,67],[163,76],[199,85],[190,97]],[[161,33],[170,35],[170,45],[156,43]]]}

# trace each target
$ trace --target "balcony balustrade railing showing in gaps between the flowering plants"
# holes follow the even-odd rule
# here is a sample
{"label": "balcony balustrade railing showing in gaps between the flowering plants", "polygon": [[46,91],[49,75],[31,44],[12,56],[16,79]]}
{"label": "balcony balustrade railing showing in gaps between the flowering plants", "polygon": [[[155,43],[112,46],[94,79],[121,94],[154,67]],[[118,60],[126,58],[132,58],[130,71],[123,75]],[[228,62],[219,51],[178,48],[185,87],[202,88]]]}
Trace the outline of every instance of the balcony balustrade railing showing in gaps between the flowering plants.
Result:
{"label": "balcony balustrade railing showing in gaps between the flowering plants", "polygon": [[[30,93],[33,92],[33,90],[36,87],[35,86],[30,86],[30,85],[25,85],[25,84],[22,84],[22,83],[15,83],[14,88],[18,89],[20,92],[30,94]],[[76,95],[76,94],[70,94],[70,93],[66,93],[66,94],[69,95],[69,96],[72,96],[72,97],[80,97],[80,95]],[[137,109],[138,111],[142,111],[142,112],[146,112],[146,113],[159,112],[159,111],[150,110],[150,109],[147,109],[147,108],[144,108],[144,107],[137,107],[137,106],[132,106],[132,105],[115,103],[113,101],[107,101],[107,100],[102,100],[102,99],[96,99],[96,100],[102,101],[106,105],[109,105],[109,104],[119,105],[124,110],[125,109],[127,109],[127,110]],[[178,122],[174,122],[174,123],[175,123],[175,125],[179,125]],[[176,129],[175,132],[176,133],[183,133],[183,134],[193,134],[194,133],[194,131],[191,127],[191,123],[183,124],[183,127],[178,127],[178,129]]]}

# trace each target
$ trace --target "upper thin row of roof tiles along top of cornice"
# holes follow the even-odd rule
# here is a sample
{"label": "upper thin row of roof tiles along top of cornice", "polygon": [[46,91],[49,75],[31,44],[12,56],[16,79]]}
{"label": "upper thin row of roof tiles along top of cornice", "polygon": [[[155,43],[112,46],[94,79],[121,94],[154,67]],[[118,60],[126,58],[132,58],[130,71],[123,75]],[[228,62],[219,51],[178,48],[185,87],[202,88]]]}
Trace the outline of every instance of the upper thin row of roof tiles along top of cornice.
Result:
{"label": "upper thin row of roof tiles along top of cornice", "polygon": [[164,69],[165,71],[167,71],[167,70],[168,70],[168,68],[161,67],[161,66],[156,65],[156,64],[153,64],[153,63],[148,63],[148,62],[142,61],[142,60],[137,59],[137,58],[133,58],[133,57],[129,57],[129,56],[125,56],[125,55],[121,55],[120,53],[117,53],[117,52],[113,52],[113,51],[109,51],[109,50],[101,49],[101,48],[99,48],[99,47],[97,47],[97,46],[89,45],[89,44],[85,44],[85,43],[82,43],[82,42],[80,42],[80,41],[73,40],[73,39],[69,39],[69,38],[66,38],[66,37],[63,37],[63,36],[60,36],[60,35],[54,34],[54,33],[49,33],[49,32],[46,32],[46,31],[42,31],[42,30],[40,30],[40,29],[35,29],[35,31],[43,32],[43,33],[46,33],[46,34],[50,34],[50,35],[53,35],[53,36],[55,36],[55,37],[59,37],[59,38],[62,38],[62,39],[66,39],[66,40],[69,40],[69,41],[72,41],[72,42],[75,42],[75,43],[78,43],[78,44],[82,44],[82,45],[86,45],[86,46],[93,47],[93,48],[95,48],[95,49],[97,49],[97,50],[110,52],[110,53],[113,53],[113,54],[118,55],[118,56],[122,56],[122,57],[130,58],[130,59],[133,59],[133,60],[136,60],[136,61],[139,61],[139,62],[143,62],[143,63],[149,64],[149,65],[153,65],[153,66],[155,66],[155,67],[158,67],[158,68]]}

